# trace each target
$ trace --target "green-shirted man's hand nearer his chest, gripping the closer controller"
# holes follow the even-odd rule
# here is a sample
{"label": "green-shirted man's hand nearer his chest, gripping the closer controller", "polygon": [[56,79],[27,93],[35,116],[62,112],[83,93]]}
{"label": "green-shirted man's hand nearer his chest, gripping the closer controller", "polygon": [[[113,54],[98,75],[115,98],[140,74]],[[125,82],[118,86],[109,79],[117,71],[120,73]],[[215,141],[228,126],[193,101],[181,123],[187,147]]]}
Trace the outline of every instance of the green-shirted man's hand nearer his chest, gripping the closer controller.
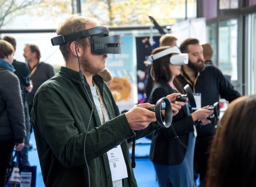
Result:
{"label": "green-shirted man's hand nearer his chest, gripping the closer controller", "polygon": [[143,103],[135,106],[125,113],[126,119],[132,130],[142,130],[148,127],[151,122],[157,121],[154,112],[148,108],[154,108],[155,105]]}

